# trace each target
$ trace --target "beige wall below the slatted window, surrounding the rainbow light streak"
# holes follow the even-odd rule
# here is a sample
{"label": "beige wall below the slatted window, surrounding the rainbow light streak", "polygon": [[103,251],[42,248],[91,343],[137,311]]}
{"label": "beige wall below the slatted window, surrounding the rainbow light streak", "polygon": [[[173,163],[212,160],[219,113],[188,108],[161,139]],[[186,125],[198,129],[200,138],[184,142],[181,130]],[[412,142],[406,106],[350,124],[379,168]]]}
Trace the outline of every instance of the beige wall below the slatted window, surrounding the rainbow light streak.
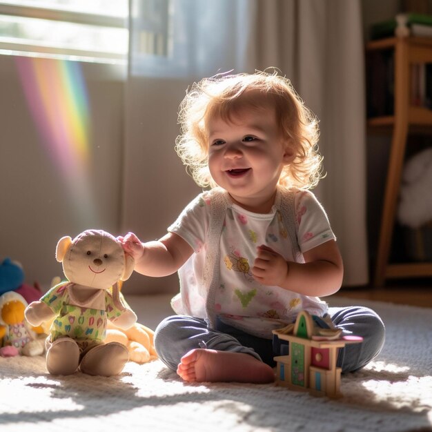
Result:
{"label": "beige wall below the slatted window, surrounding the rainbow light streak", "polygon": [[[24,95],[16,60],[0,56],[0,260],[17,259],[26,282],[48,288],[52,277],[63,275],[55,260],[60,237],[75,237],[86,228],[115,232],[119,227],[124,81],[118,68],[81,65],[90,105],[88,188],[96,208],[95,215],[83,216],[86,208],[71,196],[79,178],[69,188],[52,159],[41,121],[35,121]],[[46,90],[54,88],[52,77],[41,81]]]}

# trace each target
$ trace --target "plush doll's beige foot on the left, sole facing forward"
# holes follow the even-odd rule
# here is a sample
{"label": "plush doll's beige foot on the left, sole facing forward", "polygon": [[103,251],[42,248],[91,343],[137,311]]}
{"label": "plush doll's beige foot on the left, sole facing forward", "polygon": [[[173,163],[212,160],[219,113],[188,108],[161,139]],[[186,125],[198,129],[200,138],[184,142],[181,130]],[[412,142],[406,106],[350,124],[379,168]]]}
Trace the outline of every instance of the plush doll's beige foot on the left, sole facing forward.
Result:
{"label": "plush doll's beige foot on the left, sole facing forward", "polygon": [[46,353],[46,369],[51,375],[70,375],[79,366],[79,346],[70,337],[52,342]]}

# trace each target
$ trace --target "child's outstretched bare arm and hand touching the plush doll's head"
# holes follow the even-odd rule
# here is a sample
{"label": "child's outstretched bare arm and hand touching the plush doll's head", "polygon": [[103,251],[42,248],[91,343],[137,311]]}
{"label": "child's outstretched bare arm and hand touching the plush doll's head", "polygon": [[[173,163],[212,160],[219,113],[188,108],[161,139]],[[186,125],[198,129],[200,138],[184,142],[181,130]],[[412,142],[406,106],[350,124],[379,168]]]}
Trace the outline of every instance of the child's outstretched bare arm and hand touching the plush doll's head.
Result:
{"label": "child's outstretched bare arm and hand touching the plush doll's head", "polygon": [[142,243],[133,233],[119,237],[123,248],[135,259],[141,275],[160,277],[175,273],[192,255],[193,248],[179,235],[168,233],[155,242]]}

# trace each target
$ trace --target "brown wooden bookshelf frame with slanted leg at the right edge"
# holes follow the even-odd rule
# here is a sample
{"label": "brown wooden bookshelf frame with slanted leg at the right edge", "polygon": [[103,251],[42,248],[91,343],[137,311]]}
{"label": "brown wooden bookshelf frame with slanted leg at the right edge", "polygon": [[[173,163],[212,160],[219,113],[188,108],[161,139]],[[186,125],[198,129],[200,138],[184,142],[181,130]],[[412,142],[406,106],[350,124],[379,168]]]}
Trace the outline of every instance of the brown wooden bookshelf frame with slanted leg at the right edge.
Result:
{"label": "brown wooden bookshelf frame with slanted leg at the right edge", "polygon": [[369,130],[384,130],[391,134],[374,277],[375,286],[383,286],[386,279],[432,276],[432,263],[429,262],[389,262],[406,141],[413,131],[432,135],[432,110],[412,106],[410,99],[410,68],[415,64],[432,63],[432,38],[392,37],[366,44],[366,55],[376,50],[393,50],[394,64],[393,113],[367,121]]}

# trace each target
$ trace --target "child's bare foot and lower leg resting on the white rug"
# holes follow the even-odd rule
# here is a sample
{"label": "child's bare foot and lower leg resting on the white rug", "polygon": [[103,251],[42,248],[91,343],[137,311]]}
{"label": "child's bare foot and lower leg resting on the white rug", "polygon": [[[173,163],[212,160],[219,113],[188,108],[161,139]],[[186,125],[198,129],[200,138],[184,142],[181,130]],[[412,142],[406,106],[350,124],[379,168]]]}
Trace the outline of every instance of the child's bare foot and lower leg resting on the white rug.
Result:
{"label": "child's bare foot and lower leg resting on the white rug", "polygon": [[266,384],[275,380],[271,366],[246,353],[230,353],[197,348],[189,351],[177,366],[185,381],[251,382]]}

